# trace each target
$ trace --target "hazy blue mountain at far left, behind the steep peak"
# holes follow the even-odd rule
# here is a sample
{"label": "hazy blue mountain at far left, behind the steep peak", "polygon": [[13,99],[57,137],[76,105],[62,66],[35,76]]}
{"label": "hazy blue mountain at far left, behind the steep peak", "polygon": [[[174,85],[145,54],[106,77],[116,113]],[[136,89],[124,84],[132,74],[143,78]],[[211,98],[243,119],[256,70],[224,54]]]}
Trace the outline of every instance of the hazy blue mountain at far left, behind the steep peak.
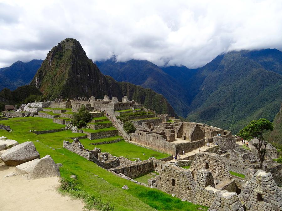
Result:
{"label": "hazy blue mountain at far left, behind the steep peak", "polygon": [[8,68],[0,68],[0,90],[9,88],[15,90],[27,85],[33,79],[43,60],[34,59],[30,62],[17,61]]}

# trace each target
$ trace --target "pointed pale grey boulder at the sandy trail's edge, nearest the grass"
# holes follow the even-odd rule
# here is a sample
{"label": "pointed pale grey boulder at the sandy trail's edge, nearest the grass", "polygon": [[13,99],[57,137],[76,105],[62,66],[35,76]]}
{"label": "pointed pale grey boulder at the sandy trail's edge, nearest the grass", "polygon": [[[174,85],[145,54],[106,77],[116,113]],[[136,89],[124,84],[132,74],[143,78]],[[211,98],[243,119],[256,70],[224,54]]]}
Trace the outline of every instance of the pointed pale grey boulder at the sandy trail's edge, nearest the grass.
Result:
{"label": "pointed pale grey boulder at the sandy trail's edge, nearest the grass", "polygon": [[16,167],[16,171],[20,174],[24,174],[26,179],[60,176],[59,167],[50,155],[20,164]]}

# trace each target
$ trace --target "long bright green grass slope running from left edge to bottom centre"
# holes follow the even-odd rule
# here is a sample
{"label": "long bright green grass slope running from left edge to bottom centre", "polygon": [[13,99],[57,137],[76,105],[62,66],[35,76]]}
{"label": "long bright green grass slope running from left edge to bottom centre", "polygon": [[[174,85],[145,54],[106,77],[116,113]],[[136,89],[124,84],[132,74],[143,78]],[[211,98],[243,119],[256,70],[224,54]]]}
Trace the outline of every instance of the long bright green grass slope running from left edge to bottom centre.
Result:
{"label": "long bright green grass slope running from left edge to bottom centre", "polygon": [[[51,119],[25,117],[3,120],[3,122],[4,121],[7,121],[5,124],[10,125],[14,131],[7,132],[0,130],[0,136],[17,140],[19,143],[32,141],[39,151],[41,158],[49,154],[54,159],[55,163],[62,163],[63,167],[60,167],[61,176],[69,181],[67,192],[76,197],[85,198],[87,205],[95,205],[95,207],[100,210],[118,211],[150,211],[155,209],[178,211],[198,210],[197,208],[199,207],[204,208],[203,210],[207,209],[206,207],[189,202],[182,202],[180,198],[172,197],[160,190],[147,188],[120,178],[106,169],[97,166],[95,163],[62,148],[65,137],[70,137],[71,133],[69,132],[62,131],[42,135],[28,132],[28,130],[42,126],[46,127],[45,130],[55,129],[58,126],[63,127],[62,125],[53,123]],[[36,127],[34,124],[36,124]],[[72,135],[79,135],[79,133],[73,133]],[[98,146],[102,147],[104,145]],[[49,148],[50,146],[56,149],[53,150]],[[59,148],[55,146],[59,146]],[[132,146],[137,147],[135,145]],[[113,145],[113,147],[115,146]],[[126,146],[121,145],[120,147],[122,150],[125,150],[124,148]],[[120,149],[116,148],[115,150]],[[131,148],[128,148],[128,150],[131,150]],[[147,149],[142,148],[142,150]],[[148,153],[147,151],[144,152]],[[138,157],[141,158],[141,156]],[[72,174],[77,176],[76,181],[70,179],[70,175]],[[123,185],[127,185],[129,189],[123,190]],[[88,208],[90,209],[91,207]]]}

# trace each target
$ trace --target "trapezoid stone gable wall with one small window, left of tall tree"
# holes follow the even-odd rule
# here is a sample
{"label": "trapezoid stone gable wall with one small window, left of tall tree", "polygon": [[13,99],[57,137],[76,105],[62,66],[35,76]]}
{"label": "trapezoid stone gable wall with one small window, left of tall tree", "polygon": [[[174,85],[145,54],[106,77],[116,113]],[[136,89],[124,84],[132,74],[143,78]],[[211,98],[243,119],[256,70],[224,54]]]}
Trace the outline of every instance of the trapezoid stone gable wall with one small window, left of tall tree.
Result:
{"label": "trapezoid stone gable wall with one small window, left of tall tree", "polygon": [[195,155],[195,159],[191,164],[190,169],[193,170],[194,172],[197,172],[201,169],[208,169],[209,171],[212,172],[213,177],[220,181],[232,179],[226,167],[226,164],[222,161],[222,157],[215,153],[207,153],[207,152],[197,153]]}

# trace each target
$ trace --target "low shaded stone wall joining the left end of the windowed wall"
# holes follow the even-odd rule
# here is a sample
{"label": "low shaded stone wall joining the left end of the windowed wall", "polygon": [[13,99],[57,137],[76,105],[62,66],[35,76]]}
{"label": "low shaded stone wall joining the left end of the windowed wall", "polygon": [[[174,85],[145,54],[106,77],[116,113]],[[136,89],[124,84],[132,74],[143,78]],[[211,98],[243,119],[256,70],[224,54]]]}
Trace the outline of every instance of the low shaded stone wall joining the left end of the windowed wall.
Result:
{"label": "low shaded stone wall joining the left end of the windowed wall", "polygon": [[142,174],[154,171],[153,160],[144,160],[125,166],[112,168],[110,170],[117,174],[123,173],[124,175],[130,178],[136,178],[138,176],[141,176]]}

